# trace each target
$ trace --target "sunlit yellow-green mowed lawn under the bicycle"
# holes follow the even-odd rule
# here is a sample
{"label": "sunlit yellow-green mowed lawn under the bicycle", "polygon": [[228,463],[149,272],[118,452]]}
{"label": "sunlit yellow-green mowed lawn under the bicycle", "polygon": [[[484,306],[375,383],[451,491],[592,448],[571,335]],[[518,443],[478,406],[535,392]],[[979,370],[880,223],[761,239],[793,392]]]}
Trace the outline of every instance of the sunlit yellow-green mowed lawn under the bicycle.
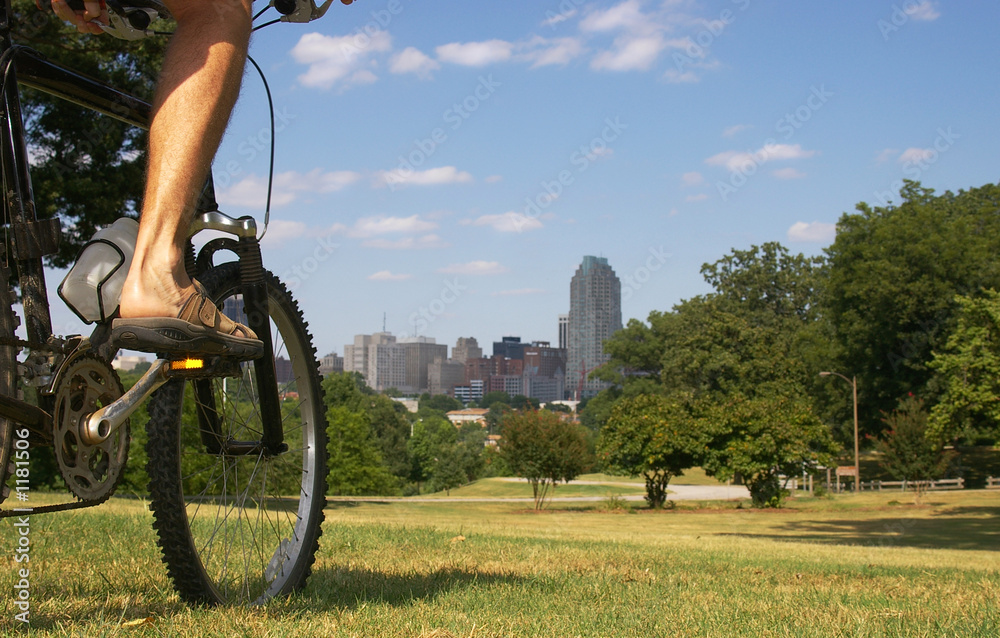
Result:
{"label": "sunlit yellow-green mowed lawn under the bicycle", "polygon": [[[779,511],[604,506],[337,502],[306,590],[249,610],[181,604],[139,501],[39,515],[31,625],[72,636],[1000,635],[1000,491],[932,493],[919,507],[898,493]],[[2,524],[4,547],[12,530]],[[5,554],[3,635],[16,628]]]}

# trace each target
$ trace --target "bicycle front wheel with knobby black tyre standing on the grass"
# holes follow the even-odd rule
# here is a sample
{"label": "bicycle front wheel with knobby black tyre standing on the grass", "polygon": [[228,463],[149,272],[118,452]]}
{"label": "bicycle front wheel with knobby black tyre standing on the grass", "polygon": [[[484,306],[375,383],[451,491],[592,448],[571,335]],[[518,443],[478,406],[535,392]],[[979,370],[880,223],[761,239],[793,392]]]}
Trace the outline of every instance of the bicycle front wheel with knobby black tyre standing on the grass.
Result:
{"label": "bicycle front wheel with knobby black tyre standing on the grass", "polygon": [[[220,308],[242,307],[236,264],[200,280]],[[287,451],[226,445],[262,438],[252,363],[240,377],[172,380],[150,399],[153,525],[174,586],[194,604],[290,594],[305,585],[318,549],[326,419],[316,353],[285,286],[270,273],[266,281]]]}

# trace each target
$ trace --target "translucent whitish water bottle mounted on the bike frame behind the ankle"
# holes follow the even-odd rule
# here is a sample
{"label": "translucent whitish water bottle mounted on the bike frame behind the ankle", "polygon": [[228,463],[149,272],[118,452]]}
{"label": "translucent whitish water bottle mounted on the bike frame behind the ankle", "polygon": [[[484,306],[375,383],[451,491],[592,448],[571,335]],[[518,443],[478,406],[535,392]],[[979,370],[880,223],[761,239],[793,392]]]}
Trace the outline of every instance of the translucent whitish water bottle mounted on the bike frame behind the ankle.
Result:
{"label": "translucent whitish water bottle mounted on the bike frame behind the ankle", "polygon": [[86,323],[107,321],[118,310],[138,234],[139,224],[128,217],[97,231],[59,284],[59,296]]}

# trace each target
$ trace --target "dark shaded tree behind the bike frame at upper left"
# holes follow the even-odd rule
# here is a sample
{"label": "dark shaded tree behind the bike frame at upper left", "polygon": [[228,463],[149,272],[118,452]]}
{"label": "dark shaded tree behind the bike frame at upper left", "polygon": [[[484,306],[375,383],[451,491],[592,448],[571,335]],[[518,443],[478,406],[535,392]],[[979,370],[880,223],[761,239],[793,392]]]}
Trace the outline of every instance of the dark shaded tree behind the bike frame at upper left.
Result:
{"label": "dark shaded tree behind the bike frame at upper left", "polygon": [[[73,69],[149,99],[166,38],[124,42],[77,33],[32,0],[15,0],[14,38]],[[31,180],[40,218],[63,219],[57,267],[71,264],[94,232],[138,214],[145,184],[146,134],[38,91],[25,91]]]}

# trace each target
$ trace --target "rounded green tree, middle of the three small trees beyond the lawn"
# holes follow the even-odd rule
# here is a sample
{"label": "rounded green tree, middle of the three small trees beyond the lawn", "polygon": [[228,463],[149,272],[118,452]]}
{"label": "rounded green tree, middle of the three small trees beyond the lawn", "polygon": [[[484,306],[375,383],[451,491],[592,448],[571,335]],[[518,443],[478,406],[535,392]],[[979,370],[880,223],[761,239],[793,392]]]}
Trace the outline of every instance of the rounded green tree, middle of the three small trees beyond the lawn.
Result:
{"label": "rounded green tree, middle of the three small trees beyond the lawn", "polygon": [[646,502],[659,509],[670,479],[695,465],[704,443],[680,402],[643,395],[615,404],[601,429],[598,454],[612,474],[641,475],[646,480]]}

